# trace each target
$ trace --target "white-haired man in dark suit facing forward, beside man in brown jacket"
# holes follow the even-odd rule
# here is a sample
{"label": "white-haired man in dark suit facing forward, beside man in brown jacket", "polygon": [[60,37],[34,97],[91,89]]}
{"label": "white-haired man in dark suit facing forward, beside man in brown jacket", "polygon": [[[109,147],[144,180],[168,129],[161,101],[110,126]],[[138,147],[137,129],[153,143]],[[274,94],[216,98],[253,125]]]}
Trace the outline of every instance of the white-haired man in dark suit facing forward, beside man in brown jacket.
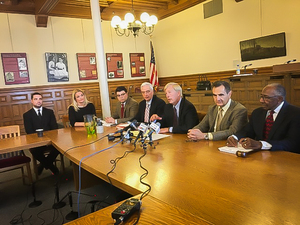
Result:
{"label": "white-haired man in dark suit facing forward, beside man in brown jacket", "polygon": [[153,86],[149,82],[141,84],[141,92],[144,100],[139,103],[139,110],[134,119],[138,122],[149,123],[153,114],[163,114],[166,103],[154,95]]}

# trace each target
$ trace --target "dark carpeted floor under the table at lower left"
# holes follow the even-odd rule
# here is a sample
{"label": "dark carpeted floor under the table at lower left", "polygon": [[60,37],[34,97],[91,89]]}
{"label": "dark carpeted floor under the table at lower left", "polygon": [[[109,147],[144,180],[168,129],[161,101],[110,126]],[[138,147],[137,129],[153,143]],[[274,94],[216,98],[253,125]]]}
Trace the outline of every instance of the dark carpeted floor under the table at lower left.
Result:
{"label": "dark carpeted floor under the table at lower left", "polygon": [[[29,204],[34,201],[32,186],[23,185],[19,177],[20,171],[11,171],[0,174],[0,224],[24,224],[24,225],[42,225],[42,224],[64,224],[72,219],[66,219],[66,216],[72,216],[70,212],[78,215],[78,192],[75,192],[73,183],[72,166],[66,162],[66,172],[54,176],[50,171],[44,170],[40,179],[35,182],[34,189],[36,200],[42,204],[35,208],[30,208]],[[58,188],[57,188],[58,187]],[[66,205],[59,209],[53,209],[57,203],[56,190],[59,193],[59,200]],[[71,193],[71,195],[70,195]],[[71,196],[72,201],[70,202]],[[130,197],[127,193],[112,187],[108,183],[99,179],[99,184],[81,190],[79,198],[80,216],[87,215],[93,211],[114,204],[125,198]],[[72,208],[70,207],[72,203]],[[59,206],[55,204],[54,206]]]}

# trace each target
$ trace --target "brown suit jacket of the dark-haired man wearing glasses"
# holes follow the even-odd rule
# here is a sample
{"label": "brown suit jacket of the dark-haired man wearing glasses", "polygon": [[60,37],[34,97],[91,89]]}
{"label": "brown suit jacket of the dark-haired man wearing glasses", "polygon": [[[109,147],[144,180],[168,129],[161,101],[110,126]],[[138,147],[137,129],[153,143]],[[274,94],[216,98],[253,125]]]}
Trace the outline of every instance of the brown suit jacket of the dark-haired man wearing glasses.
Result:
{"label": "brown suit jacket of the dark-haired man wearing glasses", "polygon": [[125,104],[125,109],[124,109],[124,118],[121,118],[121,102],[117,103],[116,106],[116,111],[113,114],[113,118],[117,119],[117,123],[124,123],[126,121],[131,120],[138,111],[139,104],[137,101],[135,101],[133,98],[128,97],[126,104]]}

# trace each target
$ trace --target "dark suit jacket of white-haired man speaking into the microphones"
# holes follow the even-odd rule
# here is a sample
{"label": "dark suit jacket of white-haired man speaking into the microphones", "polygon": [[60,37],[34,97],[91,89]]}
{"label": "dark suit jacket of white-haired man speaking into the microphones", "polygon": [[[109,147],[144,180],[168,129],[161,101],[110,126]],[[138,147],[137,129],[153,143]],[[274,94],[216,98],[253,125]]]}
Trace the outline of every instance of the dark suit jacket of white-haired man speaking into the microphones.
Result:
{"label": "dark suit jacket of white-haired man speaking into the microphones", "polygon": [[[161,127],[173,127],[173,105],[166,104],[162,116]],[[186,134],[189,129],[199,123],[195,106],[182,98],[179,106],[178,126],[173,127],[173,133]]]}

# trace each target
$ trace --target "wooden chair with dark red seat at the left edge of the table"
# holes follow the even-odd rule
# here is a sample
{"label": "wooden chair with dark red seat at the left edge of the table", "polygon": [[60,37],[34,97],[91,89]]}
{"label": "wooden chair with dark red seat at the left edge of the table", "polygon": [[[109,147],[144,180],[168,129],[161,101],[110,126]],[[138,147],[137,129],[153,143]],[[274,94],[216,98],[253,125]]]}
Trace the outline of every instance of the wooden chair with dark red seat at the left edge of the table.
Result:
{"label": "wooden chair with dark red seat at the left edge of the table", "polygon": [[[20,136],[19,125],[0,127],[0,139],[15,138]],[[23,184],[25,184],[25,178],[29,179],[32,183],[32,175],[30,169],[31,158],[24,154],[24,151],[16,151],[10,153],[0,154],[0,173],[21,169]],[[27,175],[24,173],[24,167],[27,169]]]}

